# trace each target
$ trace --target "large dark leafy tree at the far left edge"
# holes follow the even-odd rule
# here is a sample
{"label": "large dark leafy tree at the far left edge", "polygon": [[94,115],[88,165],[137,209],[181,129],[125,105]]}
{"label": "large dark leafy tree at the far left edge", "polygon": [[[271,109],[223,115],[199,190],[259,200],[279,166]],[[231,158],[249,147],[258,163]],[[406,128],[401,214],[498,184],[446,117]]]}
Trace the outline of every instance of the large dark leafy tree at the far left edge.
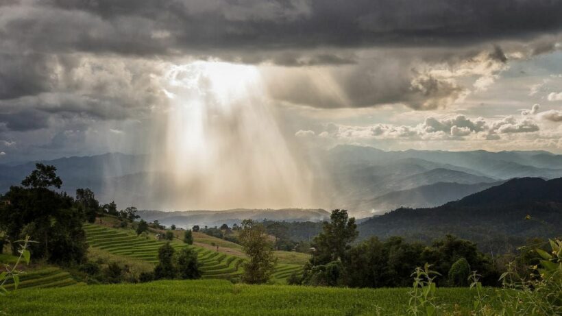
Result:
{"label": "large dark leafy tree at the far left edge", "polygon": [[[12,186],[1,197],[0,230],[11,241],[26,234],[40,241],[29,247],[34,258],[45,258],[51,263],[82,263],[88,248],[82,230],[84,212],[66,193],[49,189],[62,184],[55,167],[37,167],[22,181],[26,187]],[[12,243],[12,253],[17,252]]]}

